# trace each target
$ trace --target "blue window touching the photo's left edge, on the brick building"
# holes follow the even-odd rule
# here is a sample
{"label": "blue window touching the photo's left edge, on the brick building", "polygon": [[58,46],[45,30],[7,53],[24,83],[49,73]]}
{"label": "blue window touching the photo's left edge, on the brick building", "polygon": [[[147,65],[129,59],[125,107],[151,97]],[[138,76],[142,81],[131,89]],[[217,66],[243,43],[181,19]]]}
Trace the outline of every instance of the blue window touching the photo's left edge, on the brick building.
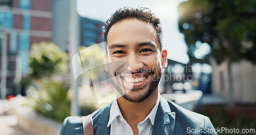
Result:
{"label": "blue window touching the photo's left edge, on the brick building", "polygon": [[0,11],[0,27],[13,28],[13,13]]}

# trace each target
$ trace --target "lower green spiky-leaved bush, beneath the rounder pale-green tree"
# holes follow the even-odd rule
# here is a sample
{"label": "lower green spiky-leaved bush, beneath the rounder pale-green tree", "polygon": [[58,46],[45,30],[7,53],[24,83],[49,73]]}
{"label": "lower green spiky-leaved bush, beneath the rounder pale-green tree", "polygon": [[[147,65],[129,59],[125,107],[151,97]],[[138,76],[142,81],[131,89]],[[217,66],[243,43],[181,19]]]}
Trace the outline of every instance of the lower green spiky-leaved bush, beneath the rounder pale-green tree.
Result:
{"label": "lower green spiky-leaved bush, beneath the rounder pale-green tree", "polygon": [[44,79],[39,88],[31,88],[30,100],[34,101],[31,106],[39,114],[62,122],[70,116],[70,99],[67,97],[69,86],[65,82],[55,82]]}

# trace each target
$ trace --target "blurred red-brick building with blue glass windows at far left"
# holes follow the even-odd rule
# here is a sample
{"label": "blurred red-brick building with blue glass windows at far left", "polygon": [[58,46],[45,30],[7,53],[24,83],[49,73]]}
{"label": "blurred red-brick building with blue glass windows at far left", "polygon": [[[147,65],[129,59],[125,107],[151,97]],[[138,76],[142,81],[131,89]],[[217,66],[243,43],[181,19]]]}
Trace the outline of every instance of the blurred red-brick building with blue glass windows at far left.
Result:
{"label": "blurred red-brick building with blue glass windows at far left", "polygon": [[6,36],[0,49],[7,47],[7,95],[20,94],[15,81],[29,73],[31,44],[52,40],[51,3],[51,0],[0,0],[0,35]]}

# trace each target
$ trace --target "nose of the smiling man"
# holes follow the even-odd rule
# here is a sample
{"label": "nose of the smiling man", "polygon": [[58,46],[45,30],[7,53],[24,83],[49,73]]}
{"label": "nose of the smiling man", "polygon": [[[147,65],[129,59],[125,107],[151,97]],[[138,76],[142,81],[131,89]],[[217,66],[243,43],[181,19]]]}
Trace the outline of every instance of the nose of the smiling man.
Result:
{"label": "nose of the smiling man", "polygon": [[137,55],[127,57],[127,62],[129,62],[131,72],[138,72],[143,67],[143,63]]}

